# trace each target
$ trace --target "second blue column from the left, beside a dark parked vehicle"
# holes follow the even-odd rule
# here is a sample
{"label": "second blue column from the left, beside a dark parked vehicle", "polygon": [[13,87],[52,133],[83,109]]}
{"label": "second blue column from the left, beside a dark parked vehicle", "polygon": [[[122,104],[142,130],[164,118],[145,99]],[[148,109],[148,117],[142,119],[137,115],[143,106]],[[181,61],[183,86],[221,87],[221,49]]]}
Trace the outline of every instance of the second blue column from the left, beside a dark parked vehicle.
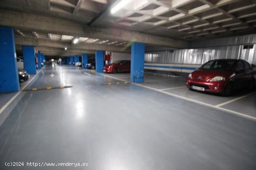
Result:
{"label": "second blue column from the left, beside a dark parked vehicle", "polygon": [[36,74],[34,46],[22,46],[24,69],[29,74]]}

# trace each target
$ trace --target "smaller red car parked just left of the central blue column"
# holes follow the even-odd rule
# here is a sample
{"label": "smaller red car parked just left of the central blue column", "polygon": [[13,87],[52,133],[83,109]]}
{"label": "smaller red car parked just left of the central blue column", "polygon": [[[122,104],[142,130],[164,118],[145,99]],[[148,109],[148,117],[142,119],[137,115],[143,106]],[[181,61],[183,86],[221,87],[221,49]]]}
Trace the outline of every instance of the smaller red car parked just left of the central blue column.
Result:
{"label": "smaller red car parked just left of the central blue column", "polygon": [[130,60],[118,60],[109,65],[103,67],[103,72],[118,73],[118,72],[130,72],[131,61]]}

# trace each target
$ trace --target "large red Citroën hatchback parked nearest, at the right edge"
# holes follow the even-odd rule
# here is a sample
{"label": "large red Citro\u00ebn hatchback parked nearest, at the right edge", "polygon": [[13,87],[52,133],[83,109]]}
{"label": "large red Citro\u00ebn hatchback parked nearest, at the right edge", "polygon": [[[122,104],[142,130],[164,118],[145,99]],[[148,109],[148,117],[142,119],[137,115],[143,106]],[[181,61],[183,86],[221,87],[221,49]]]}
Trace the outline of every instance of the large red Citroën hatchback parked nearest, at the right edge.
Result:
{"label": "large red Citro\u00ebn hatchback parked nearest, at the right edge", "polygon": [[203,92],[221,93],[229,96],[238,88],[254,86],[252,66],[242,59],[216,59],[190,73],[187,86]]}

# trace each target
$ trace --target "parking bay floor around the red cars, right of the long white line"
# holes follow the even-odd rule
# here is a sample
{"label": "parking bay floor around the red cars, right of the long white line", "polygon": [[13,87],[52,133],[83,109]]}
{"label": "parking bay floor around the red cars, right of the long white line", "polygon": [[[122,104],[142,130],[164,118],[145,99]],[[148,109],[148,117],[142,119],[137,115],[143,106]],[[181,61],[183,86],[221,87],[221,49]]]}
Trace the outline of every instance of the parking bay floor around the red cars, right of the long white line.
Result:
{"label": "parking bay floor around the red cars, right of the long white line", "polygon": [[[109,77],[118,78],[123,81],[129,81],[129,73],[105,74]],[[223,97],[220,94],[209,92],[197,92],[189,90],[186,86],[186,78],[181,76],[158,76],[145,74],[144,82],[140,85],[150,87],[155,90],[168,92],[183,98],[188,98],[202,104],[208,104],[216,107],[236,111],[243,115],[256,118],[256,92],[249,90],[239,90],[229,97]]]}

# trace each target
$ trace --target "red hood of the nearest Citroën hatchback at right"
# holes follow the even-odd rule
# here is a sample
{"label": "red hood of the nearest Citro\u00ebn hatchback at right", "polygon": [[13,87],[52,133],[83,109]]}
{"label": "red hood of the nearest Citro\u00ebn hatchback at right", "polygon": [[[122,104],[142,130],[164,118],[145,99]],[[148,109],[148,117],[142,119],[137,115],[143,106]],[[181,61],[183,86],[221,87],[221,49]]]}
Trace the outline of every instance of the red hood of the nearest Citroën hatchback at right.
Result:
{"label": "red hood of the nearest Citro\u00ebn hatchback at right", "polygon": [[214,78],[215,76],[229,77],[231,72],[218,71],[218,70],[196,70],[192,72],[192,76],[202,76]]}

